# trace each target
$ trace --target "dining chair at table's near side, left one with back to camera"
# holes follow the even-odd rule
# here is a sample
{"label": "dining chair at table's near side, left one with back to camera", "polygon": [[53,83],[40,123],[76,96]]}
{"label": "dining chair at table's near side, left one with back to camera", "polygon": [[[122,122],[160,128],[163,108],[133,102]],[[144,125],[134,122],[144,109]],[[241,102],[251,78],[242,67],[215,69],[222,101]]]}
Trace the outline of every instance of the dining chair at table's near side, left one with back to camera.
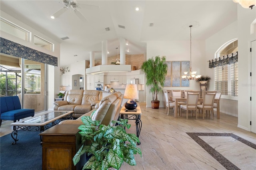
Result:
{"label": "dining chair at table's near side, left one with back to camera", "polygon": [[[200,94],[200,91],[187,91],[187,99],[186,99],[186,105],[180,105],[180,116],[181,116],[181,109],[186,110],[186,118],[188,119],[188,111],[192,111],[192,117],[193,113],[195,113],[196,116],[196,109],[197,109],[197,101],[198,96]],[[196,116],[197,119],[197,116]]]}

